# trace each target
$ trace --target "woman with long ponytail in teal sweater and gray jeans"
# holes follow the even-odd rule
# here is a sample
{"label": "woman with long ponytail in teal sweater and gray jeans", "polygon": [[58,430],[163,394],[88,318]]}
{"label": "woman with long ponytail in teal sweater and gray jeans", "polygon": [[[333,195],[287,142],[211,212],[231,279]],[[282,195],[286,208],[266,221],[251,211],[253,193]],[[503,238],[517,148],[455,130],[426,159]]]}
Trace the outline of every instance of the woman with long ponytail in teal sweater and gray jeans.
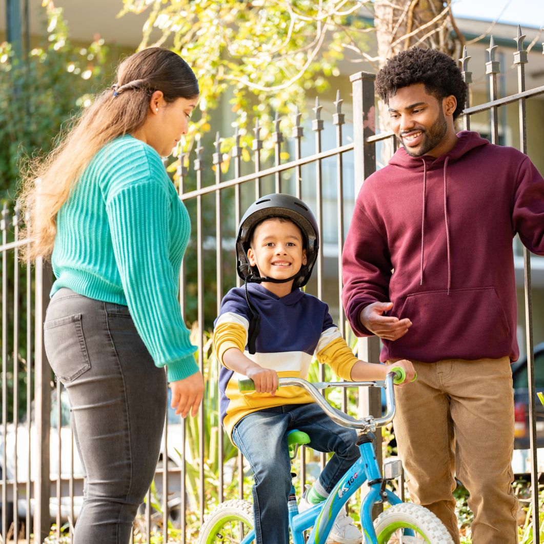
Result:
{"label": "woman with long ponytail in teal sweater and gray jeans", "polygon": [[157,465],[167,379],[176,413],[195,416],[202,399],[177,299],[189,215],[161,160],[198,97],[176,53],[131,55],[22,189],[30,256],[51,257],[56,277],[44,343],[86,472],[76,544],[129,542]]}

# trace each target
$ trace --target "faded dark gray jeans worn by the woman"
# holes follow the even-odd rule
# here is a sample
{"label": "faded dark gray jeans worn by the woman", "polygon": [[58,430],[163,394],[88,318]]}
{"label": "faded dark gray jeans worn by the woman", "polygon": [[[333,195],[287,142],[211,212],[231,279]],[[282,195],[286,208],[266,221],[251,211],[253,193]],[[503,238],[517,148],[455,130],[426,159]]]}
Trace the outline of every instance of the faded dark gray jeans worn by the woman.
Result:
{"label": "faded dark gray jeans worn by the woman", "polygon": [[75,544],[125,544],[159,457],[166,375],[126,306],[59,289],[44,324],[47,357],[64,384],[86,472]]}

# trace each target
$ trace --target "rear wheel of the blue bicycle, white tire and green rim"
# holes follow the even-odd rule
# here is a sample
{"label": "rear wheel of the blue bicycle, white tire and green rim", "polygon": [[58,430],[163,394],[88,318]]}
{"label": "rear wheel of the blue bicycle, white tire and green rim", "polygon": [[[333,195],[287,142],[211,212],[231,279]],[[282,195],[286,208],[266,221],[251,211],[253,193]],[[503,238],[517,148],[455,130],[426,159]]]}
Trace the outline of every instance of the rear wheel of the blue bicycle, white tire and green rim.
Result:
{"label": "rear wheel of the blue bicycle, white tire and green rim", "polygon": [[206,518],[200,530],[199,544],[239,544],[251,529],[252,504],[247,500],[226,500]]}

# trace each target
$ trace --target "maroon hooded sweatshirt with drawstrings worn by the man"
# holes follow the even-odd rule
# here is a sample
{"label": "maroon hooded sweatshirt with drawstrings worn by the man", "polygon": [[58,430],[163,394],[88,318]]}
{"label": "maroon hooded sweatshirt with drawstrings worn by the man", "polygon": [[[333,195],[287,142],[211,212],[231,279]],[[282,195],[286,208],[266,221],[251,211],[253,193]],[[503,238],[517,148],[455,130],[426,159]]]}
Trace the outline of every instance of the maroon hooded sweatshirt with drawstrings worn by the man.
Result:
{"label": "maroon hooded sweatshirt with drawstrings worn by the man", "polygon": [[380,359],[519,356],[512,238],[544,255],[544,180],[529,158],[460,132],[438,158],[399,149],[361,188],[342,255],[357,336],[372,302],[412,326]]}

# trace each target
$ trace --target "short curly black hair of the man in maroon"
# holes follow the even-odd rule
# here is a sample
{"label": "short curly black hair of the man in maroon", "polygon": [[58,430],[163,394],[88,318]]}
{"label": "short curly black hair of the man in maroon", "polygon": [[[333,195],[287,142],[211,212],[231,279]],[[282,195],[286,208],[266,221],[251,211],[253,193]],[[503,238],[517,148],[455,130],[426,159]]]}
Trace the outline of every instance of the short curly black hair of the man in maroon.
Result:
{"label": "short curly black hair of the man in maroon", "polygon": [[452,57],[435,49],[414,47],[387,59],[386,65],[376,76],[376,92],[389,103],[398,89],[416,83],[423,83],[428,94],[438,100],[454,95],[457,99],[454,119],[465,108],[467,85],[461,70]]}

